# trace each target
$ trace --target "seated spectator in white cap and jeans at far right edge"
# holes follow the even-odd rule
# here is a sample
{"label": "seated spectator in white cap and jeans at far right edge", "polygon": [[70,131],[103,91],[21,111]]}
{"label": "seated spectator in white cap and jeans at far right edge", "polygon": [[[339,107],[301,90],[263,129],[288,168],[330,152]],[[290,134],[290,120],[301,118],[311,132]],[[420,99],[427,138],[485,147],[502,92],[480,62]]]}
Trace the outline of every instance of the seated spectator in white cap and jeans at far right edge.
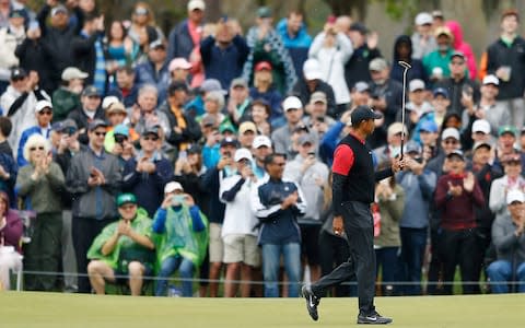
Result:
{"label": "seated spectator in white cap and jeans at far right edge", "polygon": [[513,290],[525,293],[525,196],[520,189],[506,195],[508,211],[492,224],[492,243],[497,259],[487,268],[493,293]]}

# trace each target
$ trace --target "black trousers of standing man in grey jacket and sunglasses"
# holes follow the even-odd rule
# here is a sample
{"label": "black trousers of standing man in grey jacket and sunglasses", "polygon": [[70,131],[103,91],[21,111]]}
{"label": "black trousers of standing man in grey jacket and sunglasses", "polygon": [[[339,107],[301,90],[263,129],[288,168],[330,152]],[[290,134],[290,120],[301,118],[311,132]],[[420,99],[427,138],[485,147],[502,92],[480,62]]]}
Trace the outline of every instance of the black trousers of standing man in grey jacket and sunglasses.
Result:
{"label": "black trousers of standing man in grey jacket and sunglasses", "polygon": [[93,244],[95,237],[102,232],[102,230],[109,223],[115,220],[96,220],[96,219],[86,219],[73,216],[72,222],[72,235],[73,235],[73,246],[74,255],[77,256],[77,272],[79,273],[78,283],[79,283],[79,293],[90,293],[91,284],[90,279],[88,278],[88,250]]}

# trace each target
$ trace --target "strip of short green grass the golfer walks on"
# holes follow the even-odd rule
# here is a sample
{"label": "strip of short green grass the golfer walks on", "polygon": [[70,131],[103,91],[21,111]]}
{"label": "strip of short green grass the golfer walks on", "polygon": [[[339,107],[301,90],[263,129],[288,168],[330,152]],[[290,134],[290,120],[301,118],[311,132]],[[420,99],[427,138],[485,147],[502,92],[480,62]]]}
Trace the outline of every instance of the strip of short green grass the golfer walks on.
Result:
{"label": "strip of short green grass the golfer walks on", "polygon": [[[524,327],[525,294],[377,297],[395,327]],[[347,327],[355,298],[323,298],[319,321],[300,298],[167,298],[0,293],[0,327]]]}

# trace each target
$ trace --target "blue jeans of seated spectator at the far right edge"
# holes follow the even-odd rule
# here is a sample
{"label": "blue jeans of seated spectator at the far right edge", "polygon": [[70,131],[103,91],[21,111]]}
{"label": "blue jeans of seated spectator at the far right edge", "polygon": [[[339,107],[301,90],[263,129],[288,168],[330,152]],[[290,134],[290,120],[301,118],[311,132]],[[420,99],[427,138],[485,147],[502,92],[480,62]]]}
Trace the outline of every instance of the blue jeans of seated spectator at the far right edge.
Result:
{"label": "blue jeans of seated spectator at the far right edge", "polygon": [[494,294],[509,293],[509,281],[515,278],[520,282],[517,291],[525,293],[525,262],[516,265],[516,274],[512,274],[512,263],[505,260],[497,260],[487,268],[492,292]]}

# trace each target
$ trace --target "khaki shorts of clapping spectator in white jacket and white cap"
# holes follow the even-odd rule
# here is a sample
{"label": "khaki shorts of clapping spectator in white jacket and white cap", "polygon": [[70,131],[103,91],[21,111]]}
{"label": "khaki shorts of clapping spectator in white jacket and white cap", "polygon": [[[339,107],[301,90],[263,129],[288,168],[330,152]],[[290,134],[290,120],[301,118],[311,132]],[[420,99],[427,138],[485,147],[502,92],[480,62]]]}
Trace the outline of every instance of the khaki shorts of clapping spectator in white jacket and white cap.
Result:
{"label": "khaki shorts of clapping spectator in white jacket and white cap", "polygon": [[260,249],[257,237],[252,235],[228,235],[224,237],[224,262],[244,262],[260,267]]}

